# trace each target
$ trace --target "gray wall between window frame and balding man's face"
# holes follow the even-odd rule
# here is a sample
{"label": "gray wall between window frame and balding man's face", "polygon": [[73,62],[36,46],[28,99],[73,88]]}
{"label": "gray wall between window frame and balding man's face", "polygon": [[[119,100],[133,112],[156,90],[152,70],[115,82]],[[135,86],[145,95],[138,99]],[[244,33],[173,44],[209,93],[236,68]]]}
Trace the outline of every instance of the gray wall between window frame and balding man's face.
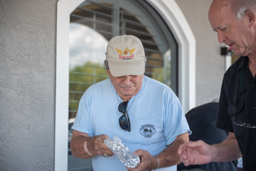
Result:
{"label": "gray wall between window frame and balding man's face", "polygon": [[196,38],[196,105],[219,98],[225,58],[217,33],[208,21],[208,10],[212,0],[176,0]]}

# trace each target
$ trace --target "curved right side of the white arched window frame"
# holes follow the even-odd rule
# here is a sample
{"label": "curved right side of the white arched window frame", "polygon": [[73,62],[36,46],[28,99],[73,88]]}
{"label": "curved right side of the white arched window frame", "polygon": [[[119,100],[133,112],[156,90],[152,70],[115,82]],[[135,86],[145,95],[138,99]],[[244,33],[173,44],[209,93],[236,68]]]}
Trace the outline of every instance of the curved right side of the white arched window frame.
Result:
{"label": "curved right side of the white arched window frame", "polygon": [[178,96],[186,114],[196,106],[196,38],[174,0],[146,0],[162,16],[178,43]]}

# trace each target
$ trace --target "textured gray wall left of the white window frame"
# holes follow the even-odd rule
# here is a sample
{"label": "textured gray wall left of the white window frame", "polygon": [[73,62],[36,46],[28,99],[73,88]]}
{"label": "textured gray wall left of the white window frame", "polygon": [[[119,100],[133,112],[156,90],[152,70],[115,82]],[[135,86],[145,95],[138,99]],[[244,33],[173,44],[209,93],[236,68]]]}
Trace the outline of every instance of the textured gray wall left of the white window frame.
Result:
{"label": "textured gray wall left of the white window frame", "polygon": [[0,170],[54,169],[56,3],[0,1]]}

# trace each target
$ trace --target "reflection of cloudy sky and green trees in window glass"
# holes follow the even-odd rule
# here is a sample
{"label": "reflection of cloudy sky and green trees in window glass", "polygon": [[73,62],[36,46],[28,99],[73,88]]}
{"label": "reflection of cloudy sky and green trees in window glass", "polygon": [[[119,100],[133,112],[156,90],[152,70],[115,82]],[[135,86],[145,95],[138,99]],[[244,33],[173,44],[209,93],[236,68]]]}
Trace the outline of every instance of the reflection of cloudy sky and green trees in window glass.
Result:
{"label": "reflection of cloudy sky and green trees in window glass", "polygon": [[70,23],[69,38],[69,112],[70,118],[75,118],[82,94],[92,84],[109,77],[103,64],[109,41],[94,29],[78,23]]}

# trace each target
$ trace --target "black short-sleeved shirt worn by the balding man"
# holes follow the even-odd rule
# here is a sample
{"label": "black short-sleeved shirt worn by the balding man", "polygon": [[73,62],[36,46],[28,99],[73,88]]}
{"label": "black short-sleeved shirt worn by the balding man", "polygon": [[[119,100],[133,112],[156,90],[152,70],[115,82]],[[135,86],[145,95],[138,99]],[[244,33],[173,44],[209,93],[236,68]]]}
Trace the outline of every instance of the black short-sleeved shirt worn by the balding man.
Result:
{"label": "black short-sleeved shirt worn by the balding man", "polygon": [[241,56],[224,74],[216,126],[233,132],[243,155],[243,170],[256,170],[256,76],[248,67],[249,59]]}

